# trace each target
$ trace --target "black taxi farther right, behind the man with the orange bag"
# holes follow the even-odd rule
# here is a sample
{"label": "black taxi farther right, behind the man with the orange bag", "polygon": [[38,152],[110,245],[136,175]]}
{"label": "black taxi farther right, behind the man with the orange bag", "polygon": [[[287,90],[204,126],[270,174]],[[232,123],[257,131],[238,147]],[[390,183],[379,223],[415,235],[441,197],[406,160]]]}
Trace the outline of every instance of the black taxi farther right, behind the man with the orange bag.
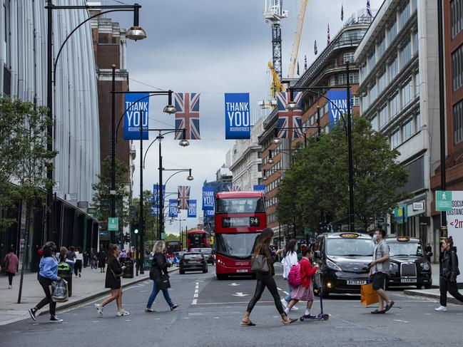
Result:
{"label": "black taxi farther right, behind the man with the orange bag", "polygon": [[431,264],[426,259],[419,239],[388,237],[390,248],[390,277],[387,286],[432,286]]}

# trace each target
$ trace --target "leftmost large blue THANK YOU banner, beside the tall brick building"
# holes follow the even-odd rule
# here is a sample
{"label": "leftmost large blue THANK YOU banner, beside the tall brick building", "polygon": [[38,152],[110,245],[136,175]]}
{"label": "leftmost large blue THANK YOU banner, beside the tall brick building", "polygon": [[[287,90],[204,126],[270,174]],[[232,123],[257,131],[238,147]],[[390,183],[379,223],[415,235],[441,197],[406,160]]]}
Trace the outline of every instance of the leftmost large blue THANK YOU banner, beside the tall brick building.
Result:
{"label": "leftmost large blue THANK YOU banner, beside the tall brick building", "polygon": [[[140,140],[140,126],[143,122],[143,129],[148,129],[148,93],[127,93],[124,101],[124,140]],[[141,114],[143,113],[143,117]],[[143,119],[143,120],[142,120]],[[148,140],[148,131],[143,132],[143,140]]]}

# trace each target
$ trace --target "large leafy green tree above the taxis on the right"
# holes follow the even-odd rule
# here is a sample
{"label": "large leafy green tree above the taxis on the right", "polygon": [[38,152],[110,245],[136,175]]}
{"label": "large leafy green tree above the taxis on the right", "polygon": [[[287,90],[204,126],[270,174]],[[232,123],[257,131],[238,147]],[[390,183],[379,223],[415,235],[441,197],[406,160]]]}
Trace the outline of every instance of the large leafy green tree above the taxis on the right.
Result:
{"label": "large leafy green tree above the taxis on the right", "polygon": [[[327,135],[310,138],[299,147],[294,165],[285,173],[278,190],[278,219],[282,223],[318,229],[322,214],[347,219],[349,207],[347,139],[338,124]],[[367,230],[375,217],[408,197],[400,192],[408,172],[397,162],[381,133],[361,117],[353,118],[352,165],[354,168],[355,224]]]}

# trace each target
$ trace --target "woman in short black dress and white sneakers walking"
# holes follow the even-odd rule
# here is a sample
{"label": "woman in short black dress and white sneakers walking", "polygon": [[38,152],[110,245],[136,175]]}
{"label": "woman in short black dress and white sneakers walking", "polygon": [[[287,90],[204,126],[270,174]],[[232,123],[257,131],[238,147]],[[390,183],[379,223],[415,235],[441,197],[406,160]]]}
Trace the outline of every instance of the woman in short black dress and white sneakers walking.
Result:
{"label": "woman in short black dress and white sneakers walking", "polygon": [[128,316],[129,313],[122,309],[122,288],[121,276],[126,266],[122,266],[118,261],[119,249],[117,244],[109,244],[108,247],[108,269],[106,271],[105,288],[111,288],[111,296],[104,299],[101,304],[95,304],[98,314],[103,316],[103,307],[111,301],[116,300],[118,316]]}

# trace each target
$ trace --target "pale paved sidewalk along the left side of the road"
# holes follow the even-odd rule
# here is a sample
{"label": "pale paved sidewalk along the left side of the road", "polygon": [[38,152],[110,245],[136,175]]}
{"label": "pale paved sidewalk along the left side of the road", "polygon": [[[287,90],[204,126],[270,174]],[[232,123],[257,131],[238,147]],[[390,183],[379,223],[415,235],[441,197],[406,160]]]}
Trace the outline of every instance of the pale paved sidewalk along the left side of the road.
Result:
{"label": "pale paved sidewalk along the left side of the road", "polygon": [[[169,272],[177,270],[178,267],[169,269]],[[106,295],[110,289],[104,287],[106,273],[101,273],[100,269],[91,270],[90,267],[82,269],[82,276],[73,276],[72,279],[72,296],[66,303],[56,305],[56,310],[68,309],[71,306],[82,304],[85,301],[95,299],[98,296]],[[37,281],[37,273],[26,272],[23,280],[23,291],[21,295],[21,304],[18,302],[20,274],[13,278],[13,289],[8,289],[8,276],[0,276],[0,326],[21,321],[29,318],[28,309],[31,309],[44,298],[44,289]],[[135,276],[133,279],[121,279],[122,286],[130,286],[141,281],[149,280],[149,270],[145,274]],[[39,314],[48,313],[49,306],[44,306]]]}

